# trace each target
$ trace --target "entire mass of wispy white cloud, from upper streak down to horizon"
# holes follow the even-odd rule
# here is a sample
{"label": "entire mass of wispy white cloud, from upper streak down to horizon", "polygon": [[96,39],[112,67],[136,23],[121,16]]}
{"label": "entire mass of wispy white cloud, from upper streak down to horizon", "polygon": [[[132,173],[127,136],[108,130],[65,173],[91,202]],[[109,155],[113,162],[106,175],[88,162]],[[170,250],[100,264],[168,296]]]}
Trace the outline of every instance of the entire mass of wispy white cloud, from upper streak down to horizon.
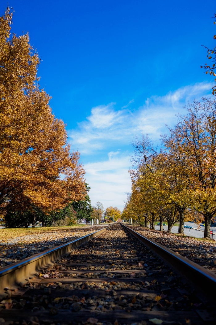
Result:
{"label": "entire mass of wispy white cloud, from upper streak down to horizon", "polygon": [[69,130],[73,149],[81,152],[92,204],[101,201],[105,208],[116,205],[123,209],[125,192],[131,190],[128,169],[133,137],[148,133],[157,140],[167,132],[165,124],[172,127],[177,122],[176,114],[186,113],[183,107],[188,101],[210,97],[211,86],[199,83],[165,96],[152,96],[136,110],[129,108],[132,101],[119,110],[115,103],[100,105],[92,108],[91,114],[78,123],[76,129]]}

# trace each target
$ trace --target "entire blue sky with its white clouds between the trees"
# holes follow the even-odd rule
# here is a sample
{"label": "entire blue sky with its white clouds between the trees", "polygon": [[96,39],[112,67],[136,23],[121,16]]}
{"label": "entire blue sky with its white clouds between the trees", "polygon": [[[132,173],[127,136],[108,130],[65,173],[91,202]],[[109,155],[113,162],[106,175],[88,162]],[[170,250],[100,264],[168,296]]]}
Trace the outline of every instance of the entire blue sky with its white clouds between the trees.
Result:
{"label": "entire blue sky with its white clouds between the trees", "polygon": [[215,1],[1,1],[12,32],[29,33],[68,141],[81,153],[94,205],[123,209],[130,192],[131,142],[157,139],[188,100],[210,97],[202,44],[215,46]]}

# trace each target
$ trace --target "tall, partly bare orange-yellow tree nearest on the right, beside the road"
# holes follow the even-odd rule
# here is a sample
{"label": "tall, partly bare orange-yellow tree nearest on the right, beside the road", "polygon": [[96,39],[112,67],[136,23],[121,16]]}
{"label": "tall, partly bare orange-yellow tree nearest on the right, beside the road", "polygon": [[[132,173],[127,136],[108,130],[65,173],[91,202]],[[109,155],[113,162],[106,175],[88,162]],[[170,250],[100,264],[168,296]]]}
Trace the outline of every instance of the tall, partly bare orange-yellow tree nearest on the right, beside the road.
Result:
{"label": "tall, partly bare orange-yellow tree nearest on the right, beside the road", "polygon": [[191,207],[203,215],[204,237],[210,238],[210,221],[216,214],[216,101],[189,104],[188,115],[179,116],[164,143],[181,165]]}

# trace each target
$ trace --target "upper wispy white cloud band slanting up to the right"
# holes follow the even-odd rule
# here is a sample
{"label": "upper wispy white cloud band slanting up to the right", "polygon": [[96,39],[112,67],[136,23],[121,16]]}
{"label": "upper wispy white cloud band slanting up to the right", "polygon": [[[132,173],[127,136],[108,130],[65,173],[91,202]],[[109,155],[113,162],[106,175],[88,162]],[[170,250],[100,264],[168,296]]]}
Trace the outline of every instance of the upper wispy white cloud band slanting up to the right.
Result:
{"label": "upper wispy white cloud band slanting up to the right", "polygon": [[73,148],[88,155],[111,149],[116,143],[130,144],[133,136],[141,132],[158,138],[166,132],[165,124],[176,123],[176,114],[185,111],[183,106],[188,101],[206,96],[210,89],[210,83],[185,86],[165,96],[147,98],[145,104],[133,112],[127,108],[133,100],[119,110],[115,109],[115,103],[94,107],[85,121],[68,131],[70,142]]}

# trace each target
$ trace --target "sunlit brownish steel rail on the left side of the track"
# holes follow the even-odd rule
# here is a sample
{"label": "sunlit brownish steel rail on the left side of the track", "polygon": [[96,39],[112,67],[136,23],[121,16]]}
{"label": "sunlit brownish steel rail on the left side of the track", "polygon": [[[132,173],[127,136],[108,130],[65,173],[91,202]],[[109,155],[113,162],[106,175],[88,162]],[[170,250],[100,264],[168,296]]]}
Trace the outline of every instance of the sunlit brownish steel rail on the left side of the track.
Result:
{"label": "sunlit brownish steel rail on the left side of the track", "polygon": [[4,293],[5,288],[17,288],[17,285],[22,283],[27,278],[32,277],[41,268],[53,265],[53,262],[59,257],[66,253],[70,253],[74,248],[80,246],[93,237],[99,236],[109,227],[110,226],[104,227],[76,240],[69,241],[0,268],[0,294]]}

